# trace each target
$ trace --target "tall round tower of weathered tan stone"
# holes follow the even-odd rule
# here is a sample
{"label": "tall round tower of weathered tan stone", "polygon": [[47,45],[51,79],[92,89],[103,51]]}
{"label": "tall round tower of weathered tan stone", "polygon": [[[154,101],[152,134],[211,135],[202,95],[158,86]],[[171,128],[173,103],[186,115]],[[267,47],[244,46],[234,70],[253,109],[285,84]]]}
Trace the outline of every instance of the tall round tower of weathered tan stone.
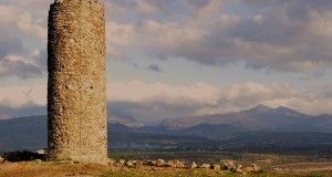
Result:
{"label": "tall round tower of weathered tan stone", "polygon": [[107,159],[104,4],[55,0],[49,11],[48,145],[52,159]]}

